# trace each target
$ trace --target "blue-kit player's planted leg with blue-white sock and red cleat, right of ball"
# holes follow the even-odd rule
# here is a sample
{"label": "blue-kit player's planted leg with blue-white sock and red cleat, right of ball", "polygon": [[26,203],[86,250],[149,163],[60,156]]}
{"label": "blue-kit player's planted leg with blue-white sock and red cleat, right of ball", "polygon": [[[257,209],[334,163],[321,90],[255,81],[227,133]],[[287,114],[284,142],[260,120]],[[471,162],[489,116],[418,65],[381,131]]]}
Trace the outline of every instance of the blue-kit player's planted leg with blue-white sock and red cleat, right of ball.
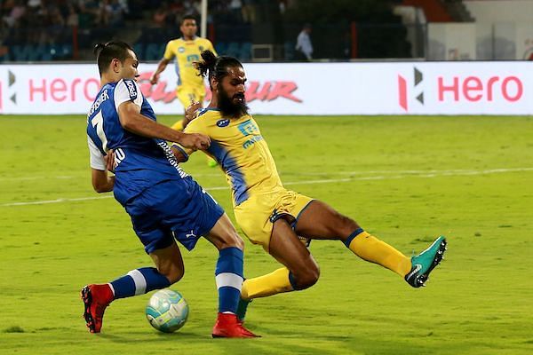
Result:
{"label": "blue-kit player's planted leg with blue-white sock and red cleat, right of ball", "polygon": [[243,286],[244,243],[224,213],[205,238],[219,249],[215,280],[219,290],[219,315],[213,337],[255,337],[238,321],[237,307]]}

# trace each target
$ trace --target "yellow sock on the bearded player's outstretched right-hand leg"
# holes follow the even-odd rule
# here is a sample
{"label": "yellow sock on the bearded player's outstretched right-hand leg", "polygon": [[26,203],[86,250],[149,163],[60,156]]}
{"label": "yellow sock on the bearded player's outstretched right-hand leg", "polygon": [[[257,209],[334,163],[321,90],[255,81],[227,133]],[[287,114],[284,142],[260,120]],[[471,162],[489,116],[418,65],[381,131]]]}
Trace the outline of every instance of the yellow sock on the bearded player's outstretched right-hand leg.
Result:
{"label": "yellow sock on the bearded player's outstretched right-hand leg", "polygon": [[411,269],[410,257],[391,247],[384,241],[358,229],[345,241],[346,247],[370,263],[380,264],[400,276],[405,276]]}

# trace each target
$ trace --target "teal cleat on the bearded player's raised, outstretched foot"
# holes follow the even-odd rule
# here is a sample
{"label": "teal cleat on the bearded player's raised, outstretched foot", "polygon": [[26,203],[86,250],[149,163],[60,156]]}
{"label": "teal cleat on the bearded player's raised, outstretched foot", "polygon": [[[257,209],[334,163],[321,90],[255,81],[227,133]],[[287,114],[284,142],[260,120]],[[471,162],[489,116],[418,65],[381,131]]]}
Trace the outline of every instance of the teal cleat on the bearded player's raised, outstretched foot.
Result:
{"label": "teal cleat on the bearded player's raised, outstretched foot", "polygon": [[405,275],[405,280],[413,288],[426,286],[426,280],[429,278],[429,273],[441,263],[444,258],[444,251],[446,251],[446,238],[437,238],[429,248],[426,248],[418,256],[411,257],[411,270]]}

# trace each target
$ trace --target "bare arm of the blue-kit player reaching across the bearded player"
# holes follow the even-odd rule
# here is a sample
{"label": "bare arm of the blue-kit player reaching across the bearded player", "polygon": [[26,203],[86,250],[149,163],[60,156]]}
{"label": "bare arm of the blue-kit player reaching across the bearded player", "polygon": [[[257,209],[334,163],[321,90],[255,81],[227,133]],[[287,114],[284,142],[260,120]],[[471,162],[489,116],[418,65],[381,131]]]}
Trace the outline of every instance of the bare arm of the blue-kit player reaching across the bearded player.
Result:
{"label": "bare arm of the blue-kit player reaching across the bearded player", "polygon": [[139,136],[161,138],[193,150],[207,149],[211,144],[211,139],[203,134],[186,134],[150,120],[140,114],[140,107],[132,101],[123,102],[118,106],[118,117],[124,130]]}

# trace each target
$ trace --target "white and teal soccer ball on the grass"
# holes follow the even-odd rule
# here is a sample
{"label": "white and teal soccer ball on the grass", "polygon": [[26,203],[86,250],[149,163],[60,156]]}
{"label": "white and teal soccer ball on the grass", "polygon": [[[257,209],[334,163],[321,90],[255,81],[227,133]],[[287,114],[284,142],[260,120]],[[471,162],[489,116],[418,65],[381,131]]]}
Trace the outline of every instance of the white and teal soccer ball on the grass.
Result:
{"label": "white and teal soccer ball on the grass", "polygon": [[146,313],[152,327],[163,333],[172,333],[187,321],[188,304],[179,292],[161,289],[150,297]]}

